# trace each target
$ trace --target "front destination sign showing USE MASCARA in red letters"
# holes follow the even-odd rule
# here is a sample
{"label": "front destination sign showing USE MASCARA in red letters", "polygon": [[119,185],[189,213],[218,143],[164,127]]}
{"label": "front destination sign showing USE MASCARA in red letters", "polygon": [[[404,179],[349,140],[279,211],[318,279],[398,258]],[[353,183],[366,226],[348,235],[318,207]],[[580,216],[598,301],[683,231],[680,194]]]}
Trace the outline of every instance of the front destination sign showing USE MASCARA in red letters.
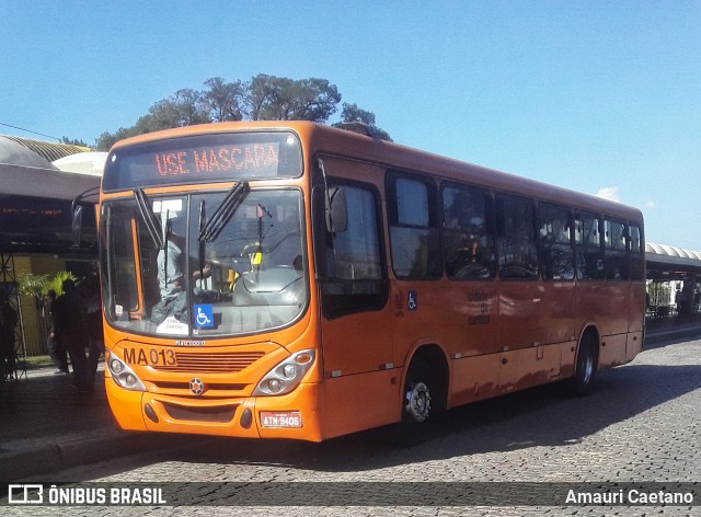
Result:
{"label": "front destination sign showing USE MASCARA in red letters", "polygon": [[117,149],[103,189],[299,175],[301,149],[290,133],[199,135]]}

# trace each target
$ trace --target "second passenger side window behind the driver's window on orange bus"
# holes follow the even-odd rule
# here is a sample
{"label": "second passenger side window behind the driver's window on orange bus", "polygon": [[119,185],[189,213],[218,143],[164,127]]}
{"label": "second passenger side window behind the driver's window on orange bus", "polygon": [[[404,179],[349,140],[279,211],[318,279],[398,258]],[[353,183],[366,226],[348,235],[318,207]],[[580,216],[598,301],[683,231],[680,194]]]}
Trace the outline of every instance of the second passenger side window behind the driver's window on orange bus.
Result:
{"label": "second passenger side window behind the driver's window on orange bus", "polygon": [[453,280],[494,278],[493,202],[483,189],[447,185],[443,189],[444,256]]}

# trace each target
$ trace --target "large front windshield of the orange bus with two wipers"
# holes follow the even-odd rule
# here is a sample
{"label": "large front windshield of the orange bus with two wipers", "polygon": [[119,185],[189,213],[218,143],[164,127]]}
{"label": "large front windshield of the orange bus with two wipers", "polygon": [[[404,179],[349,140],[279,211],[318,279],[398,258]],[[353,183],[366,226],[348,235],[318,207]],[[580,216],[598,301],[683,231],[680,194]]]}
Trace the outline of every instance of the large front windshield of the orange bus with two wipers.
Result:
{"label": "large front windshield of the orange bus with two wipers", "polygon": [[244,185],[104,203],[102,282],[113,326],[218,337],[279,329],[301,315],[301,192]]}

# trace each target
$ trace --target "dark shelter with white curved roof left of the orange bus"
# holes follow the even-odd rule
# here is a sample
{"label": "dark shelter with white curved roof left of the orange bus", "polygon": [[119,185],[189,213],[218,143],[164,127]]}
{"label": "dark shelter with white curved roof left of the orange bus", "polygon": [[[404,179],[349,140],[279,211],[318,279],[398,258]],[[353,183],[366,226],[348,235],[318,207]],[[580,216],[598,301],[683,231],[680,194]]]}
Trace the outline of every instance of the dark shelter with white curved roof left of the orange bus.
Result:
{"label": "dark shelter with white curved roof left of the orange bus", "polygon": [[[19,364],[44,348],[41,300],[20,296],[21,274],[50,275],[97,258],[94,211],[88,210],[84,244],[73,245],[71,204],[100,185],[104,156],[71,157],[88,148],[0,136],[0,290],[19,317]],[[102,164],[100,164],[102,159]],[[78,162],[78,164],[76,164]],[[82,170],[80,170],[82,168]],[[28,346],[28,349],[27,349]],[[16,372],[15,372],[16,376]]]}

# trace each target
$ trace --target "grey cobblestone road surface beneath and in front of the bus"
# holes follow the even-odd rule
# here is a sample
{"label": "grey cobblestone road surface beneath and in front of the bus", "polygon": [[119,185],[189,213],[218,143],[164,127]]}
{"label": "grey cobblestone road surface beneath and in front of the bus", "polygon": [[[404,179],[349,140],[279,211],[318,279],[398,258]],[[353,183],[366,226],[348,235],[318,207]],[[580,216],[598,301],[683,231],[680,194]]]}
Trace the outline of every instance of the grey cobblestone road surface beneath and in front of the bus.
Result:
{"label": "grey cobblestone road surface beneath and in front of the bus", "polygon": [[[552,486],[554,490],[560,482],[701,481],[701,342],[663,344],[643,352],[630,365],[600,372],[597,390],[589,397],[572,399],[563,397],[561,391],[562,387],[553,384],[455,410],[438,425],[437,436],[410,449],[388,446],[383,440],[386,432],[364,433],[320,445],[193,438],[192,446],[184,449],[73,469],[57,474],[51,481],[197,480],[211,483],[207,485],[209,493],[197,494],[197,497],[212,505],[220,503],[223,494],[217,487],[231,482],[277,482],[297,492],[298,498],[292,501],[303,501],[313,497],[313,492],[307,492],[309,485],[284,482],[370,482],[382,491],[388,490],[386,482],[538,482],[541,489]],[[514,484],[499,486],[518,489]],[[341,502],[343,494],[338,497]],[[42,509],[46,513],[48,508]],[[37,513],[23,512],[22,515],[42,515],[39,508],[34,512]],[[71,515],[176,514],[628,516],[701,515],[701,506],[71,509]]]}

